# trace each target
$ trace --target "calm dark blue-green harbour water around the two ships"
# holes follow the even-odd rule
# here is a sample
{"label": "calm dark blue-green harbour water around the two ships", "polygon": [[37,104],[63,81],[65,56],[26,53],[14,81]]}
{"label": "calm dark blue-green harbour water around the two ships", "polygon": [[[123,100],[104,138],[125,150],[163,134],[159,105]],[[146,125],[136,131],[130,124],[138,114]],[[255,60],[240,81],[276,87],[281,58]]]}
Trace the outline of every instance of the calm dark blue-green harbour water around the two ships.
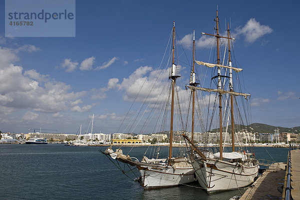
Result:
{"label": "calm dark blue-green harbour water around the two ships", "polygon": [[[184,185],[143,190],[98,151],[105,148],[0,144],[0,199],[229,199],[240,195],[238,190],[207,195],[200,188]],[[131,149],[130,155],[138,159],[146,148],[122,147],[123,153]],[[285,162],[288,149],[255,147],[254,151],[257,158],[272,159],[271,155]],[[147,154],[153,152],[149,148]]]}

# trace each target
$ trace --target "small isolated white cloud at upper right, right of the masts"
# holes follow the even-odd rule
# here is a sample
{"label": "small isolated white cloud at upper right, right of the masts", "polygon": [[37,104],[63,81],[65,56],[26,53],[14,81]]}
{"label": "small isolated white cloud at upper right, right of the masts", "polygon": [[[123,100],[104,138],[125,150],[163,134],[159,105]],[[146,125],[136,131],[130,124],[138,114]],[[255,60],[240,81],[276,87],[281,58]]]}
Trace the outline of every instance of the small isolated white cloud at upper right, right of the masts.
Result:
{"label": "small isolated white cloud at upper right, right of the masts", "polygon": [[236,35],[242,34],[245,36],[246,42],[252,43],[273,30],[268,25],[261,25],[255,18],[250,18],[243,27],[237,27],[235,31]]}

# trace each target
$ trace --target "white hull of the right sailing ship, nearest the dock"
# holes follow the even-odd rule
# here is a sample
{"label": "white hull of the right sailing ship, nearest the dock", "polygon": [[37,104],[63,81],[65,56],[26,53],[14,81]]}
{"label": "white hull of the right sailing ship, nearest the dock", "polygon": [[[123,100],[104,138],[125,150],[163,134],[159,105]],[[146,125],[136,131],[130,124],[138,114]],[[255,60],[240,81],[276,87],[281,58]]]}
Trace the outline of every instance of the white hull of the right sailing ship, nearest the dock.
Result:
{"label": "white hull of the right sailing ship, nearest the dock", "polygon": [[194,161],[193,167],[199,184],[208,193],[250,185],[258,175],[257,164],[243,166],[207,159],[207,161]]}

